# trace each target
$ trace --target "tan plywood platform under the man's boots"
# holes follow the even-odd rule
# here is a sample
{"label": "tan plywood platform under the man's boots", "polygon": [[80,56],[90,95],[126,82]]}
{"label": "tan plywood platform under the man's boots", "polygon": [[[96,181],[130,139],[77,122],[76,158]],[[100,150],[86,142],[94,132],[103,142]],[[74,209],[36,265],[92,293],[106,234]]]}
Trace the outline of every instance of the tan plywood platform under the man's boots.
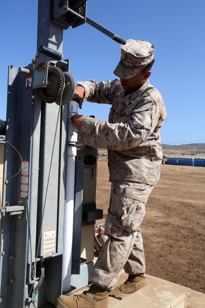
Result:
{"label": "tan plywood platform under the man's boots", "polygon": [[[109,296],[108,308],[205,308],[205,294],[177,285],[173,282],[146,275],[147,286],[118,300]],[[125,282],[127,274],[120,275],[118,285]],[[88,287],[75,290],[80,294]],[[54,308],[48,304],[42,308]]]}

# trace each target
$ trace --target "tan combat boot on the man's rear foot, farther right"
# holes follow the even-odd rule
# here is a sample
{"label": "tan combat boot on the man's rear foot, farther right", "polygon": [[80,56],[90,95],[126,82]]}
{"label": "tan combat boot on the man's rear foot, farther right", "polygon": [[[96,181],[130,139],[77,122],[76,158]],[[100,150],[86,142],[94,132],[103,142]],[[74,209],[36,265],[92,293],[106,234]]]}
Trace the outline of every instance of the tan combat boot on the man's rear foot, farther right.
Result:
{"label": "tan combat boot on the man's rear foot, farther right", "polygon": [[123,299],[131,293],[134,293],[137,290],[143,288],[144,286],[147,286],[144,274],[129,275],[126,282],[110,291],[110,295],[118,299]]}

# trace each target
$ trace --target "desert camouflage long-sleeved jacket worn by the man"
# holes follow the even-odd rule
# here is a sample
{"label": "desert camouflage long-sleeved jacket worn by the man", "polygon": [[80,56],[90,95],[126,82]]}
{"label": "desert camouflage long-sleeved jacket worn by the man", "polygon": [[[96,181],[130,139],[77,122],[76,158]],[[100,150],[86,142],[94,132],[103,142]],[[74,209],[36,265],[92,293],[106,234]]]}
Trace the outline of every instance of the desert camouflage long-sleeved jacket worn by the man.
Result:
{"label": "desert camouflage long-sleeved jacket worn by the man", "polygon": [[78,82],[84,101],[111,104],[108,121],[86,117],[80,140],[108,149],[110,181],[130,180],[155,185],[162,164],[159,129],[167,117],[163,99],[149,80],[126,95],[120,81]]}

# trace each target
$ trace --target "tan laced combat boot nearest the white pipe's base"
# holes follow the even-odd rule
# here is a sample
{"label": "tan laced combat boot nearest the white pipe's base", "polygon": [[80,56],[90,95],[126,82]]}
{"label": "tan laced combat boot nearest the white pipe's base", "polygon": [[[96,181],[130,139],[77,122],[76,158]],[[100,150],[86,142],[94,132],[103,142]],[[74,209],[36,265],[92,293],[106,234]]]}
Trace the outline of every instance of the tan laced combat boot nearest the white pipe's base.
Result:
{"label": "tan laced combat boot nearest the white pipe's base", "polygon": [[57,308],[107,308],[109,292],[91,285],[88,291],[74,296],[60,295],[55,306]]}

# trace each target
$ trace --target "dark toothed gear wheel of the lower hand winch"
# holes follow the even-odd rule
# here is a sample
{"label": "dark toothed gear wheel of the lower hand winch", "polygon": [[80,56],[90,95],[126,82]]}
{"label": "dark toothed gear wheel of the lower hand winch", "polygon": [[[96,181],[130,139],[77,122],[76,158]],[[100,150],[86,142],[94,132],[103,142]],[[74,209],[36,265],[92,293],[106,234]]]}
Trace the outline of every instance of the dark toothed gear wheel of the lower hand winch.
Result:
{"label": "dark toothed gear wheel of the lower hand winch", "polygon": [[46,103],[54,103],[57,101],[65,88],[65,77],[62,70],[56,66],[50,66],[48,68],[47,80],[49,84],[46,87],[40,88],[41,99]]}

